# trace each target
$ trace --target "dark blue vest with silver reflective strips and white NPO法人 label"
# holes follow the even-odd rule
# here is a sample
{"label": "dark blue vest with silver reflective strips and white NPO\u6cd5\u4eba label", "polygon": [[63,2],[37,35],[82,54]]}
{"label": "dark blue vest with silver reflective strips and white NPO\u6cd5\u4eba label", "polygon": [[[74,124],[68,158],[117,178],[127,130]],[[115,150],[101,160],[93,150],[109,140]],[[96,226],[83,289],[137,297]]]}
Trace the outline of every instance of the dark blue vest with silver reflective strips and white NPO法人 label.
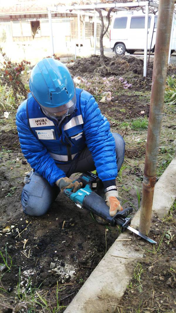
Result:
{"label": "dark blue vest with silver reflective strips and white NPO\u6cd5\u4eba label", "polygon": [[34,136],[47,148],[56,163],[72,161],[86,146],[80,109],[81,92],[81,89],[76,90],[76,113],[67,116],[59,127],[55,119],[48,118],[42,112],[32,94],[28,94],[28,124]]}

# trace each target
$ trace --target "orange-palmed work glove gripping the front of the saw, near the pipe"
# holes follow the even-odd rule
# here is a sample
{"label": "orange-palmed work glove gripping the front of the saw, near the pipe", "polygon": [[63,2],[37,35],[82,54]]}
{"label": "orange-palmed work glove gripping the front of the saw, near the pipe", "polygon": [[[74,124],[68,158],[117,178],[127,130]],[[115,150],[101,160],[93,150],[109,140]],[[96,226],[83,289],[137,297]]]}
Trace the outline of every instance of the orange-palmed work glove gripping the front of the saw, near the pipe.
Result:
{"label": "orange-palmed work glove gripping the front of the saw, near the pipe", "polygon": [[114,216],[117,211],[122,211],[123,208],[120,205],[118,200],[118,191],[117,190],[110,190],[105,193],[105,201],[109,207],[109,215]]}

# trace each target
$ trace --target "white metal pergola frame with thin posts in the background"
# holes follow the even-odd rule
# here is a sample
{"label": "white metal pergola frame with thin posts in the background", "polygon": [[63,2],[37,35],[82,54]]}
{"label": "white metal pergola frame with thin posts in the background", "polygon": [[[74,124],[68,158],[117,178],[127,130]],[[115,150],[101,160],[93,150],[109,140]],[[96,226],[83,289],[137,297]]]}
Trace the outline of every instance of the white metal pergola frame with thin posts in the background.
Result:
{"label": "white metal pergola frame with thin posts in the background", "polygon": [[[158,8],[158,3],[153,1],[138,1],[138,2],[128,2],[128,3],[95,3],[95,4],[86,4],[86,5],[70,5],[70,6],[55,6],[48,8],[48,19],[50,24],[50,37],[52,42],[52,54],[54,54],[54,44],[53,44],[53,32],[52,32],[52,20],[51,20],[51,12],[59,12],[59,13],[72,13],[78,14],[78,19],[80,16],[80,12],[75,12],[75,10],[95,10],[96,8],[137,8],[137,7],[144,7],[145,6],[145,47],[144,47],[144,60],[143,60],[143,77],[146,77],[147,71],[147,44],[148,44],[148,12],[149,6]],[[84,15],[89,14],[88,12],[82,11]],[[96,16],[97,13],[94,13],[94,54],[96,54]],[[174,19],[173,19],[174,22]],[[171,52],[171,43],[172,43],[172,32],[173,32],[173,23],[172,23],[172,30],[171,30],[171,40],[170,40],[170,47],[169,47],[169,57],[168,63],[170,61],[170,52]],[[80,47],[80,23],[78,23],[78,46]]]}

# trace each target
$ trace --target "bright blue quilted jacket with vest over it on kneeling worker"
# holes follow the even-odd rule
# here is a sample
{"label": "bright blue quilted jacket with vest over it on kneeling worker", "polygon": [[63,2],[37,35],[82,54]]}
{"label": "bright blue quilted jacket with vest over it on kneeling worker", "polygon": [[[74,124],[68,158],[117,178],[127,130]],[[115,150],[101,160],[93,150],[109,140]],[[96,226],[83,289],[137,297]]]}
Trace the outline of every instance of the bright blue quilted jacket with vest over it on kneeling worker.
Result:
{"label": "bright blue quilted jacket with vest over it on kneeling worker", "polygon": [[58,127],[29,93],[18,108],[16,124],[22,152],[51,186],[65,173],[56,165],[70,163],[88,146],[102,181],[117,176],[115,142],[109,122],[91,94],[76,88],[77,108]]}

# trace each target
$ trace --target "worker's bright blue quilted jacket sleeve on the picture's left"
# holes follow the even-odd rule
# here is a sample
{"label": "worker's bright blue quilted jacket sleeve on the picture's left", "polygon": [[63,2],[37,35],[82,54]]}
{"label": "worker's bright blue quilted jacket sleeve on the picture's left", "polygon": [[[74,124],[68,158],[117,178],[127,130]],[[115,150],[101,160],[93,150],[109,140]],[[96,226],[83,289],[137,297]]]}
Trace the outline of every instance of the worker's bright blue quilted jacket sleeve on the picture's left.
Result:
{"label": "worker's bright blue quilted jacket sleeve on the picture's left", "polygon": [[17,111],[16,125],[22,152],[28,163],[37,173],[46,178],[51,186],[65,173],[57,167],[47,149],[34,136],[28,126],[25,103],[22,103]]}

